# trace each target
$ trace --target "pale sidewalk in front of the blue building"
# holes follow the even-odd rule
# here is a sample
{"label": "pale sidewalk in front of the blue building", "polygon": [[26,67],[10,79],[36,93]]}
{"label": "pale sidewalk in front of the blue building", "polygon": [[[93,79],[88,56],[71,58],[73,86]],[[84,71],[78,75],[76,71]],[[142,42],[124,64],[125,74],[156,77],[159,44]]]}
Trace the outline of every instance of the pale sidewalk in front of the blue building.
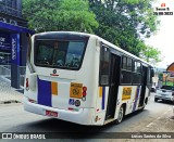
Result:
{"label": "pale sidewalk in front of the blue building", "polygon": [[23,93],[15,91],[11,87],[10,81],[0,77],[0,104],[4,103],[22,103]]}

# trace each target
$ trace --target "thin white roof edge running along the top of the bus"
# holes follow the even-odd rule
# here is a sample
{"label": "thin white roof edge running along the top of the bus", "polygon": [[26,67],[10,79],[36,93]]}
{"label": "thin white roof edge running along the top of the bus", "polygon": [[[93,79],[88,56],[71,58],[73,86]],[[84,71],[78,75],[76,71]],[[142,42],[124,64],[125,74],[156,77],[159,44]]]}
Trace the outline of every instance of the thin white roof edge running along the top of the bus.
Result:
{"label": "thin white roof edge running along the top of the bus", "polygon": [[46,33],[39,33],[39,34],[35,34],[34,36],[44,36],[44,35],[48,35],[48,34],[70,34],[70,35],[78,35],[78,36],[89,36],[89,37],[94,37],[94,38],[97,38],[99,39],[100,41],[102,41],[103,43],[105,43],[107,46],[113,48],[113,49],[116,49],[117,51],[124,53],[124,54],[127,54],[128,56],[132,56],[149,66],[152,66],[150,65],[148,62],[141,60],[140,57],[137,57],[136,55],[116,47],[115,44],[102,39],[101,37],[97,36],[97,35],[92,35],[92,34],[86,34],[86,33],[78,33],[78,31],[46,31]]}

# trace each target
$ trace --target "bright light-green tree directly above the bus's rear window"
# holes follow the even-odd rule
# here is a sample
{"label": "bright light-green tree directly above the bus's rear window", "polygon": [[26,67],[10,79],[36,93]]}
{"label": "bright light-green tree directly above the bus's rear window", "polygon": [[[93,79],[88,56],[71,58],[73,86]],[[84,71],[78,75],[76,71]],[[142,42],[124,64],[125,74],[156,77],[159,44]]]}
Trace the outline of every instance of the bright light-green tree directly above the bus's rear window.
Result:
{"label": "bright light-green tree directly above the bus's rear window", "polygon": [[24,0],[23,15],[36,31],[92,33],[92,28],[99,25],[86,0]]}

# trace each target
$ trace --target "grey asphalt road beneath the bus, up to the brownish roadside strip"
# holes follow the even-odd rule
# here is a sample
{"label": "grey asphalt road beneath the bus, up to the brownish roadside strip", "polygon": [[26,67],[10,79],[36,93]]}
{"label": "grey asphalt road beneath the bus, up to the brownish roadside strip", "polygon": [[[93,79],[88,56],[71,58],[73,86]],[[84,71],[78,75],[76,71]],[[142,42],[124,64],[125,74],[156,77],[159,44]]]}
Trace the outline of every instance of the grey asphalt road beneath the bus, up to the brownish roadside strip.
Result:
{"label": "grey asphalt road beneath the bus, up to the brownish roadside strip", "polygon": [[[25,112],[22,104],[0,105],[0,132],[139,132],[171,109],[171,103],[156,103],[153,94],[144,112],[134,113],[124,118],[120,125],[109,124],[103,127],[80,126],[54,118],[48,118]],[[90,135],[89,135],[90,138]]]}

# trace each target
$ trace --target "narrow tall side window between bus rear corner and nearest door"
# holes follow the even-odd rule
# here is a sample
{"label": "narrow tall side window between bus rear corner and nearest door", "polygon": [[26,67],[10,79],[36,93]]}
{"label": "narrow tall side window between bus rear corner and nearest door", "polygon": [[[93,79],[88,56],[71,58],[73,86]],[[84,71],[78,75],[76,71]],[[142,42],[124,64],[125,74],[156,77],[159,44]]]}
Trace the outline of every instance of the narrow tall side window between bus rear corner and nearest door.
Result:
{"label": "narrow tall side window between bus rear corner and nearest door", "polygon": [[109,85],[109,60],[110,51],[107,47],[102,46],[100,49],[100,81],[99,85]]}

